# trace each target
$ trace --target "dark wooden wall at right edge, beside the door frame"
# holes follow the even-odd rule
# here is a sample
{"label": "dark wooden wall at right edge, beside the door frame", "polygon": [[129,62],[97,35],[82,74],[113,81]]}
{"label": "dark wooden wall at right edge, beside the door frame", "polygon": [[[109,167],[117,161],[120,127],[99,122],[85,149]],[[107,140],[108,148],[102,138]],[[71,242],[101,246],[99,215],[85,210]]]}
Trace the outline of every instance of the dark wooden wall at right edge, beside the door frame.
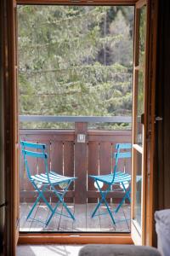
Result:
{"label": "dark wooden wall at right edge, beside the door frame", "polygon": [[[154,209],[170,208],[170,1],[159,1],[156,67]],[[156,245],[156,231],[154,230]]]}

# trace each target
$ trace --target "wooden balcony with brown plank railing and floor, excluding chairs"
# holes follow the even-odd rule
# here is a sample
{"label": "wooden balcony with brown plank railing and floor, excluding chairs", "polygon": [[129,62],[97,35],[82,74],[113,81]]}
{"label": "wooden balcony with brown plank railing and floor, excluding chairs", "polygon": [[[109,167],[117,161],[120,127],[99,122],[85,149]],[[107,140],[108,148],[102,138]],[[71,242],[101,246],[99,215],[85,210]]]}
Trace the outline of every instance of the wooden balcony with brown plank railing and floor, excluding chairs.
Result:
{"label": "wooden balcony with brown plank railing and floor, excluding chairs", "polygon": [[[94,181],[88,177],[90,174],[108,174],[115,162],[113,154],[116,143],[131,143],[131,131],[105,131],[90,130],[88,124],[91,122],[131,122],[127,117],[115,118],[93,118],[93,117],[68,117],[65,119],[57,117],[20,117],[22,122],[74,122],[74,130],[56,129],[20,129],[20,140],[34,143],[45,143],[48,148],[48,169],[59,174],[77,177],[74,186],[71,186],[65,196],[65,201],[74,212],[75,221],[70,218],[60,217],[55,214],[48,227],[42,223],[48,218],[48,208],[42,202],[35,208],[33,218],[40,221],[26,221],[27,213],[37,198],[37,191],[32,187],[26,177],[26,169],[23,158],[20,154],[20,231],[87,231],[87,232],[129,232],[130,231],[130,205],[125,203],[119,212],[115,214],[116,225],[112,224],[110,216],[100,215],[91,218],[93,209],[99,200],[99,191],[95,188]],[[79,142],[78,135],[85,135],[85,141]],[[32,160],[32,174],[41,170],[41,161]],[[120,162],[119,167],[126,172],[131,172],[131,160]],[[112,210],[121,201],[124,193],[120,187],[114,188],[107,201],[111,204]],[[52,207],[56,203],[56,197],[50,192],[45,194]],[[59,210],[65,213],[60,207]],[[106,212],[105,206],[99,208],[99,213]]]}

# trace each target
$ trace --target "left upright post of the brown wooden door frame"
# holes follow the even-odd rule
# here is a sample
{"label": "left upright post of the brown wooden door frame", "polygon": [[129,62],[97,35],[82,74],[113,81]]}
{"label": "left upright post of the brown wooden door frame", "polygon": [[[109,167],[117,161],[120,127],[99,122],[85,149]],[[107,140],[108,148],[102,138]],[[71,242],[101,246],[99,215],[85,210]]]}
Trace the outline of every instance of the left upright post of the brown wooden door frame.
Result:
{"label": "left upright post of the brown wooden door frame", "polygon": [[4,169],[6,197],[5,253],[14,255],[19,236],[18,115],[16,85],[16,3],[2,0],[3,11],[3,108],[4,108]]}

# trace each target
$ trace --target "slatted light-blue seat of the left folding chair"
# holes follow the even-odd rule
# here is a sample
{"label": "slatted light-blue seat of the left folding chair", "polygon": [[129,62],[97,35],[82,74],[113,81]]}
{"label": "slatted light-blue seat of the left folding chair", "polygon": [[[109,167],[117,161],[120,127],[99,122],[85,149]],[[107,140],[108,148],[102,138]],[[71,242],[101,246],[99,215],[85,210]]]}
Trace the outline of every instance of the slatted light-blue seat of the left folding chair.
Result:
{"label": "slatted light-blue seat of the left folding chair", "polygon": [[[76,179],[76,177],[66,177],[52,171],[48,172],[48,176],[49,176],[50,182],[53,184],[66,183]],[[46,173],[41,173],[41,174],[36,174],[31,176],[31,179],[34,181],[37,181],[38,183],[49,184],[48,176]]]}

